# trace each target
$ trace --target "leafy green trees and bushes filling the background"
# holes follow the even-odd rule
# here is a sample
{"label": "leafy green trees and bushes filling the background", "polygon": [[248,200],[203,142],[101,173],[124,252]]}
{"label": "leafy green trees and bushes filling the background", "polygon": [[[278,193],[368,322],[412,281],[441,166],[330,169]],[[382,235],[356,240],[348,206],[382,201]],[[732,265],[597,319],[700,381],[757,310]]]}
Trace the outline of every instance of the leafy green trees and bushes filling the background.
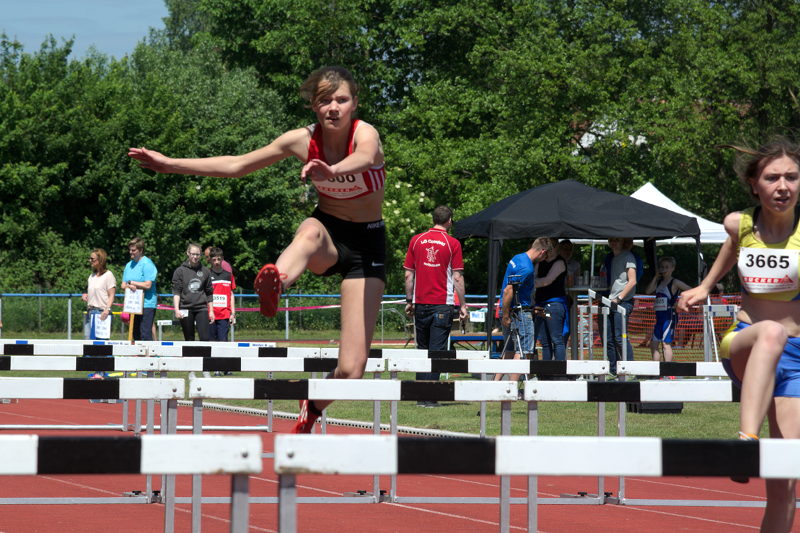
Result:
{"label": "leafy green trees and bushes filling the background", "polygon": [[[732,154],[716,146],[791,134],[800,121],[795,3],[167,6],[166,28],[119,61],[70,60],[69,41],[25,53],[0,39],[2,290],[82,288],[85,251],[102,246],[121,266],[134,235],[147,240],[161,287],[189,240],[222,246],[248,287],[311,210],[297,163],[238,180],[155,176],[125,150],[202,157],[262,146],[310,122],[297,87],[324,64],[355,73],[360,116],[382,134],[390,293],[402,291],[408,238],[436,205],[458,219],[566,178],[623,194],[652,181],[721,220],[749,198]],[[485,243],[464,249],[467,292],[483,292]],[[307,275],[297,289],[335,283]]]}

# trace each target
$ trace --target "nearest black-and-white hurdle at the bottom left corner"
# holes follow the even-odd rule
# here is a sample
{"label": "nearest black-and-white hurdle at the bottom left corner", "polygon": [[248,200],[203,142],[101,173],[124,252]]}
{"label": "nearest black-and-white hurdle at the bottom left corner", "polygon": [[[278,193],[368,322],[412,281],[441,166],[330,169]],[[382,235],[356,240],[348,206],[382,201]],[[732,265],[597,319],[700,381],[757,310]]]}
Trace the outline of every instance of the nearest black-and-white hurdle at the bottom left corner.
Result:
{"label": "nearest black-and-white hurdle at the bottom left corner", "polygon": [[[257,436],[143,435],[141,437],[0,436],[0,474],[231,474],[231,532],[246,533],[248,474],[261,472]],[[174,491],[174,486],[172,488]],[[122,503],[95,498],[93,503]],[[125,498],[125,503],[142,503]],[[8,498],[2,503],[75,504],[83,498]],[[175,498],[166,499],[164,532],[175,530]]]}

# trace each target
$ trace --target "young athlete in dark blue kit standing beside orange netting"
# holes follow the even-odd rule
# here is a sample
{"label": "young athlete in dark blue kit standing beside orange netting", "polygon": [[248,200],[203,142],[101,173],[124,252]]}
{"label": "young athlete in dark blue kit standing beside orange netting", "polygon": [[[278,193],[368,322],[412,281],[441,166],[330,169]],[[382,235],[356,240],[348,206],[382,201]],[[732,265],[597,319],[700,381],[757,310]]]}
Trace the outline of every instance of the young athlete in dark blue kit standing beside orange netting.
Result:
{"label": "young athlete in dark blue kit standing beside orange netting", "polygon": [[655,293],[653,310],[656,313],[656,324],[653,328],[653,337],[650,340],[650,352],[653,361],[661,360],[659,345],[663,344],[664,361],[672,361],[672,339],[675,327],[678,325],[678,313],[675,312],[675,303],[681,291],[688,291],[691,287],[679,279],[672,277],[675,272],[675,258],[662,257],[658,260],[658,274],[647,286],[647,294]]}

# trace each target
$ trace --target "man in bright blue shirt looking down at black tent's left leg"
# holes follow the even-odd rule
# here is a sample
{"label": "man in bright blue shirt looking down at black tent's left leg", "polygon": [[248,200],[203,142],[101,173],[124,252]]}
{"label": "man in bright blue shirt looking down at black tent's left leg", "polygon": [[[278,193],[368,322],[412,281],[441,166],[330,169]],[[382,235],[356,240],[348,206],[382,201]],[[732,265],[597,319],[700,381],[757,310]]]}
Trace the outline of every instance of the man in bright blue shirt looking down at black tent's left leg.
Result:
{"label": "man in bright blue shirt looking down at black tent's left leg", "polygon": [[[553,243],[550,238],[539,237],[533,241],[527,252],[515,255],[508,262],[500,293],[502,295],[500,319],[503,324],[503,359],[519,359],[522,354],[527,357],[533,353],[532,301],[535,265],[544,259],[552,248]],[[515,287],[518,303],[514,301]],[[517,305],[519,307],[516,307]],[[517,351],[514,337],[511,336],[512,329],[519,332],[522,353]],[[496,374],[494,379],[499,381],[502,377],[502,374]],[[519,374],[511,374],[510,379],[518,380]]]}

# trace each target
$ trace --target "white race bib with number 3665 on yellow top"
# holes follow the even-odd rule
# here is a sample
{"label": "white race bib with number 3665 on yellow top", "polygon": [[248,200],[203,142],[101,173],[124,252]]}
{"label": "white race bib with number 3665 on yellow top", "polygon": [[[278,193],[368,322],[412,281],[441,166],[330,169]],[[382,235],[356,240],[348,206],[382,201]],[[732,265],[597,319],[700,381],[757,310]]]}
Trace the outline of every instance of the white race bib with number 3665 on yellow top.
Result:
{"label": "white race bib with number 3665 on yellow top", "polygon": [[797,290],[798,250],[742,248],[739,277],[751,294]]}

